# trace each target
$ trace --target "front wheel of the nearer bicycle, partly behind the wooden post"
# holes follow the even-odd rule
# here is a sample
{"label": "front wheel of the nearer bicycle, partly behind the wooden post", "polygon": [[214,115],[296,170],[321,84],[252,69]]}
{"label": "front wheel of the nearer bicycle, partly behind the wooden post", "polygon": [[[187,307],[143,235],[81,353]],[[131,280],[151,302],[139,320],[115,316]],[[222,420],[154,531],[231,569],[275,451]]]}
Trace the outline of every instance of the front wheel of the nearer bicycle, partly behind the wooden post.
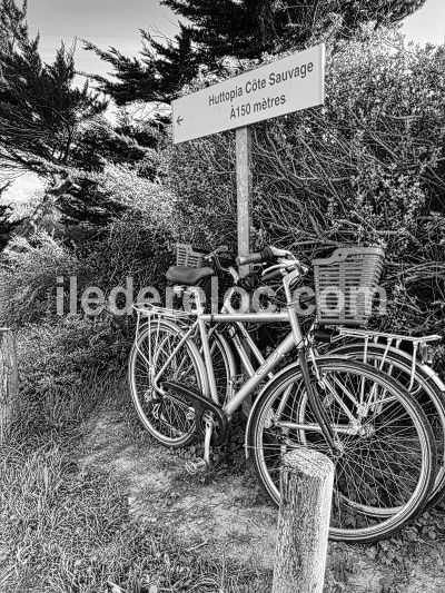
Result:
{"label": "front wheel of the nearer bicycle, partly behind the wooden post", "polygon": [[387,537],[427,501],[435,445],[425,414],[390,377],[350,359],[317,360],[316,394],[336,435],[330,452],[316,422],[298,366],[274,379],[250,425],[249,446],[259,481],[279,503],[281,456],[315,448],[335,464],[329,535],[372,542]]}

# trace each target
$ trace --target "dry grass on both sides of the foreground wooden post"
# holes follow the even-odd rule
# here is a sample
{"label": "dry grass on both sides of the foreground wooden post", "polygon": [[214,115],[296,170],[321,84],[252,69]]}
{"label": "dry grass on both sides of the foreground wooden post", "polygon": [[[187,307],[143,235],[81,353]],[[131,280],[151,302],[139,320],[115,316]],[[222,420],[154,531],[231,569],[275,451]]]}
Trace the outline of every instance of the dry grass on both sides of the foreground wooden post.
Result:
{"label": "dry grass on both sides of the foreground wooden post", "polygon": [[[0,592],[270,592],[271,571],[225,557],[210,543],[187,543],[167,522],[137,521],[112,464],[79,463],[98,404],[125,424],[136,451],[148,438],[131,419],[121,376],[90,376],[85,385],[24,405],[27,422],[0,448]],[[118,438],[110,426],[106,439]],[[428,591],[443,591],[443,511],[416,525],[374,546],[332,545],[326,593],[412,593],[427,575]]]}

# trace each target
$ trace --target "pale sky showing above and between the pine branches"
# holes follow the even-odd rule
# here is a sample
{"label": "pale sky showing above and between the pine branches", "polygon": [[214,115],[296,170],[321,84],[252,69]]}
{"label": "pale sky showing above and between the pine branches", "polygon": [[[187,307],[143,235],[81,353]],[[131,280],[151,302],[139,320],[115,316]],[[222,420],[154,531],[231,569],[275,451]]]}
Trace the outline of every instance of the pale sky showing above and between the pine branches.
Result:
{"label": "pale sky showing above and between the pine branches", "polygon": [[[215,0],[218,1],[218,0]],[[364,0],[366,1],[366,0]],[[76,38],[92,41],[102,49],[112,46],[127,56],[141,49],[139,29],[174,38],[178,18],[158,0],[28,0],[28,22],[40,32],[40,53],[52,62],[60,42],[71,46]],[[403,32],[418,43],[445,41],[445,0],[426,0],[425,6],[405,19]],[[107,63],[77,43],[76,67],[80,71],[106,75]],[[26,199],[36,187],[31,176],[22,176],[2,201]]]}

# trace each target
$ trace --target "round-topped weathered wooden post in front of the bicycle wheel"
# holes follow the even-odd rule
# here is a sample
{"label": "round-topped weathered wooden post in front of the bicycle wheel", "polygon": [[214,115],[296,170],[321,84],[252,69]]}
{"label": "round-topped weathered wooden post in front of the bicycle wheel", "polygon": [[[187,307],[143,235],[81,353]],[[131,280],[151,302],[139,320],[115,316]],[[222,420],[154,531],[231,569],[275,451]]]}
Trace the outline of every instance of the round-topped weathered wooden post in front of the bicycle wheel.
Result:
{"label": "round-topped weathered wooden post in front of the bicycle wheel", "polygon": [[284,455],[273,593],[323,592],[333,486],[334,464],[323,453]]}

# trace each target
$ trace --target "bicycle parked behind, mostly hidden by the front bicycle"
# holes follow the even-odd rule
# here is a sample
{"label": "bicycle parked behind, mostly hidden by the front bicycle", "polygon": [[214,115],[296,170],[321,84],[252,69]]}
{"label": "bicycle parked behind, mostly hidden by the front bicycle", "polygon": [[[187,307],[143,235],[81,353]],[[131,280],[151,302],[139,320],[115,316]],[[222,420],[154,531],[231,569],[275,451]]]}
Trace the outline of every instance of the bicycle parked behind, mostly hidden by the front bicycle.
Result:
{"label": "bicycle parked behind, mostly hidden by the front bicycle", "polygon": [[[189,246],[181,245],[182,251],[186,248],[190,249]],[[208,263],[217,270],[228,271],[230,268],[221,266],[221,253],[225,253],[221,248],[218,248],[210,254],[201,251],[201,264]],[[191,254],[194,254],[192,249]],[[182,253],[182,258],[186,256]],[[191,255],[191,258],[194,257],[197,257],[197,254]],[[336,258],[330,256],[326,260],[320,259],[317,261],[318,265],[320,265],[324,261],[332,261],[333,259],[335,261]],[[194,261],[194,259],[191,259],[191,261],[197,263],[196,260]],[[184,263],[189,263],[189,260],[186,259]],[[230,258],[228,259],[228,264],[230,264]],[[263,283],[267,285],[268,280],[276,278],[277,271],[279,271],[277,270],[277,266],[266,267],[261,271]],[[234,270],[231,270],[231,273],[234,273]],[[237,279],[236,274],[234,274],[234,277]],[[329,283],[330,280],[332,277],[329,275]],[[255,286],[257,285],[258,283],[255,284]],[[181,288],[184,291],[186,287],[176,288]],[[224,303],[221,313],[234,313],[234,309],[230,306],[230,296]],[[429,352],[432,344],[441,340],[441,336],[429,335],[413,337],[407,335],[370,332],[357,327],[339,327],[338,323],[345,323],[348,320],[346,318],[347,315],[337,319],[333,318],[333,314],[329,310],[327,310],[322,317],[324,317],[322,320],[327,320],[332,324],[337,322],[337,325],[335,327],[327,327],[316,323],[312,326],[310,332],[314,339],[314,347],[319,354],[330,353],[330,355],[346,356],[356,360],[362,360],[365,364],[373,364],[376,368],[379,368],[385,374],[394,377],[395,380],[402,384],[402,386],[419,402],[433,428],[437,449],[438,470],[436,472],[434,486],[428,496],[428,502],[425,506],[425,510],[432,508],[445,494],[445,385],[427,364],[427,362],[429,362],[429,364],[432,363],[432,359],[428,360],[428,358],[432,358]],[[257,348],[256,344],[250,339],[249,332],[247,332],[240,323],[235,325],[236,332],[231,334],[228,342],[224,338],[224,335],[218,333],[209,336],[212,353],[215,353],[212,354],[214,366],[218,367],[218,375],[220,377],[218,385],[227,385],[226,401],[230,398],[233,392],[234,380],[230,380],[230,378],[236,376],[237,373],[235,370],[236,364],[234,355],[230,353],[233,353],[233,350],[244,352],[243,348],[240,348],[239,339],[243,339],[245,344],[247,344],[251,357],[255,358],[258,365],[261,365],[265,362],[259,348]],[[195,339],[199,339],[199,337],[195,336]],[[233,342],[235,342],[234,347],[230,347],[230,343]],[[400,348],[400,344],[405,345],[405,349]],[[409,348],[406,347],[408,345],[411,346],[411,352]],[[418,356],[421,356],[421,359],[418,359]],[[245,373],[248,376],[251,376],[254,367],[249,357],[244,356],[243,366]]]}

